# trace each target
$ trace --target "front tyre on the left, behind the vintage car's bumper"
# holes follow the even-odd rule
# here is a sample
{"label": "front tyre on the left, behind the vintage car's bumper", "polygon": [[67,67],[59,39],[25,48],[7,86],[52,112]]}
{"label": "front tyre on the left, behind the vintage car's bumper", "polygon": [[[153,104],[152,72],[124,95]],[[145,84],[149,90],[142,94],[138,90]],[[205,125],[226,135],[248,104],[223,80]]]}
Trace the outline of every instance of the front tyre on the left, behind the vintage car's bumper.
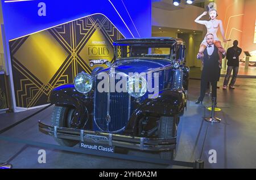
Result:
{"label": "front tyre on the left, behind the vintage car's bumper", "polygon": [[[52,112],[51,125],[58,127],[71,127],[71,119],[73,114],[75,113],[74,108],[55,106]],[[69,140],[69,139],[60,139],[55,138],[56,142],[60,145],[65,145],[68,147],[73,147],[79,141],[77,140]]]}

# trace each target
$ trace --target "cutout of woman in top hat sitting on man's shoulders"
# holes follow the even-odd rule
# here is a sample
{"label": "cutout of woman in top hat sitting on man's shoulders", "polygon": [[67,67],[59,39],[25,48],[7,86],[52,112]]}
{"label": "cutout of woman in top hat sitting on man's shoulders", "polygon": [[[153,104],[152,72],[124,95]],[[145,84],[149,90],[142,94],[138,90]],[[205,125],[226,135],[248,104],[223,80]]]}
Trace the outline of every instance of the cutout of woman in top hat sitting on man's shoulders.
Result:
{"label": "cutout of woman in top hat sitting on man's shoulders", "polygon": [[[210,16],[210,20],[207,21],[207,20],[200,20],[204,15],[207,15],[209,13],[209,16]],[[205,11],[203,12],[203,14],[201,14],[200,16],[198,16],[196,19],[195,19],[195,22],[196,23],[199,23],[199,24],[203,24],[205,25],[205,27],[207,27],[207,35],[209,33],[212,33],[213,36],[214,36],[214,45],[218,48],[218,49],[223,49],[222,48],[222,45],[221,45],[221,41],[219,40],[219,38],[217,37],[217,32],[218,32],[218,27],[220,27],[220,31],[221,31],[221,35],[223,37],[223,40],[224,42],[228,42],[228,41],[231,41],[231,40],[226,40],[225,38],[225,32],[224,32],[224,28],[223,28],[223,25],[222,25],[222,21],[221,20],[218,20],[216,19],[217,18],[217,11],[216,9],[214,8],[209,8],[209,12]],[[203,54],[204,53],[204,50],[205,48],[207,48],[207,41],[206,41],[206,38],[204,38],[204,40],[202,41],[201,45],[200,45],[200,49],[199,49],[199,54]],[[220,57],[220,68],[222,68],[222,54],[220,52],[218,52],[219,54],[219,57]]]}

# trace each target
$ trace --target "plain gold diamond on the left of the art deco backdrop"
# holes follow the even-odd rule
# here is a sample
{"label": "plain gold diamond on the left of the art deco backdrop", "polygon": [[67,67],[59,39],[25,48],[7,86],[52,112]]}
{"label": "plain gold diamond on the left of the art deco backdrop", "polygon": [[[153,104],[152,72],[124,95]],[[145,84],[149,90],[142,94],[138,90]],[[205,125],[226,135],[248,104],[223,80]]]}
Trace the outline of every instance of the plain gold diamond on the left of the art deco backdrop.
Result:
{"label": "plain gold diamond on the left of the art deco backdrop", "polygon": [[43,84],[47,84],[68,57],[68,52],[48,31],[27,38],[13,54]]}

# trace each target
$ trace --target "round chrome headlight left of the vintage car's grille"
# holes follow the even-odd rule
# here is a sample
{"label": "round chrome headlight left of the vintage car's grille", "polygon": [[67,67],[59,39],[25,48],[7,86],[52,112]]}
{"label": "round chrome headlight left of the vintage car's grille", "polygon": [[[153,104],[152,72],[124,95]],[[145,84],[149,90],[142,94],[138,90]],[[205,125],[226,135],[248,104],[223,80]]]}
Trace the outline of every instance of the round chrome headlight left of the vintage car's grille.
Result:
{"label": "round chrome headlight left of the vintage car's grille", "polygon": [[81,93],[89,92],[92,89],[92,83],[92,77],[85,72],[77,74],[74,79],[75,88]]}

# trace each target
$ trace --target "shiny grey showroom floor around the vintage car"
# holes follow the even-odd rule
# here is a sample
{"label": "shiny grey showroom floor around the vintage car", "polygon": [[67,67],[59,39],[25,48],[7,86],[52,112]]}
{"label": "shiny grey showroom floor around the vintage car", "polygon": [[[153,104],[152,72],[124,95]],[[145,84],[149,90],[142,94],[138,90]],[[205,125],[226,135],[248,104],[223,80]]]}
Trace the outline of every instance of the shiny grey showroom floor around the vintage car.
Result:
{"label": "shiny grey showroom floor around the vintage car", "polygon": [[[222,82],[223,78],[218,85],[221,86]],[[188,109],[181,117],[178,127],[176,160],[194,161],[201,158],[205,161],[205,168],[256,168],[256,111],[254,107],[256,79],[238,78],[236,89],[226,91],[218,89],[218,106],[222,111],[216,113],[216,116],[222,118],[222,122],[215,124],[203,121],[203,117],[210,115],[205,108],[210,106],[210,97],[205,97],[203,105],[194,103],[199,95],[199,85],[200,80],[189,82]],[[17,114],[0,114],[0,127],[6,127],[34,112],[35,110]],[[51,112],[52,107],[2,135],[56,144],[52,137],[38,131],[38,120],[49,123]],[[46,150],[46,164],[38,163],[39,149]],[[208,162],[211,149],[217,152],[216,164]],[[135,152],[129,154],[141,155]],[[181,168],[180,166],[84,155],[0,140],[0,162],[6,161],[10,161],[14,168]]]}

